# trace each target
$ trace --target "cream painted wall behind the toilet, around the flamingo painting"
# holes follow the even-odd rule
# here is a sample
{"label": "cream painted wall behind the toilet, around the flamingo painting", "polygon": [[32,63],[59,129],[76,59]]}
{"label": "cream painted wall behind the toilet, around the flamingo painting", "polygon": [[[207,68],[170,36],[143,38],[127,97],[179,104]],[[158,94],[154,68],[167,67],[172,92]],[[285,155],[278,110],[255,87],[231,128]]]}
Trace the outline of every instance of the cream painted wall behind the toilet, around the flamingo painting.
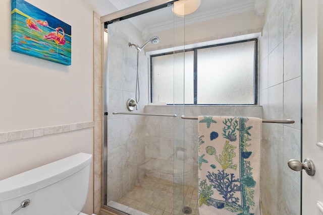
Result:
{"label": "cream painted wall behind the toilet, around the flamingo painting", "polygon": [[[0,1],[0,133],[93,121],[93,10],[115,10],[102,0],[28,3],[72,26],[72,65],[11,51],[11,1]],[[106,13],[104,13],[106,11]],[[93,128],[0,144],[0,180],[85,152]],[[93,212],[93,168],[83,212]]]}

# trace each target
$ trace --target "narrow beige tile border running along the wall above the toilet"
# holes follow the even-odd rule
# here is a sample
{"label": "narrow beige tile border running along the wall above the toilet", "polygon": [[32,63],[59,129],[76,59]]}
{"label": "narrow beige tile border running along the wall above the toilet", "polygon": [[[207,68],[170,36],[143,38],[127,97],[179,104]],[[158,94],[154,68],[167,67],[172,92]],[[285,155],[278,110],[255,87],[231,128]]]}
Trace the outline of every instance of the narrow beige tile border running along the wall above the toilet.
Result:
{"label": "narrow beige tile border running along the wall above the toilet", "polygon": [[49,134],[65,133],[92,127],[94,127],[94,121],[8,131],[0,133],[0,144],[19,139],[36,138]]}

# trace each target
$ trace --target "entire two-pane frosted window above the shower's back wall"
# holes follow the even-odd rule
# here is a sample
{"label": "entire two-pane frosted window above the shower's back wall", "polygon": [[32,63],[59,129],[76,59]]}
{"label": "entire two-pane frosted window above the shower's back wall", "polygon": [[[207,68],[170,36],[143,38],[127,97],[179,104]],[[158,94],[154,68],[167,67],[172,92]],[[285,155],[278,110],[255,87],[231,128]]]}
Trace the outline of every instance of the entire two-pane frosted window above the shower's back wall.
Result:
{"label": "entire two-pane frosted window above the shower's back wall", "polygon": [[151,102],[256,104],[255,50],[253,39],[152,55]]}

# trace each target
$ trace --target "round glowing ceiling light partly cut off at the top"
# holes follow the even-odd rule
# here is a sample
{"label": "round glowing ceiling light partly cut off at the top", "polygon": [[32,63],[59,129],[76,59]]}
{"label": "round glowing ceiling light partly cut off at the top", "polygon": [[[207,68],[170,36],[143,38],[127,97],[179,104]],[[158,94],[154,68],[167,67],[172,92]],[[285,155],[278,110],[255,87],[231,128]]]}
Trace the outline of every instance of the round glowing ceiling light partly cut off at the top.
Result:
{"label": "round glowing ceiling light partly cut off at the top", "polygon": [[180,0],[174,2],[172,8],[173,13],[176,16],[184,17],[195,12],[201,4],[201,0]]}

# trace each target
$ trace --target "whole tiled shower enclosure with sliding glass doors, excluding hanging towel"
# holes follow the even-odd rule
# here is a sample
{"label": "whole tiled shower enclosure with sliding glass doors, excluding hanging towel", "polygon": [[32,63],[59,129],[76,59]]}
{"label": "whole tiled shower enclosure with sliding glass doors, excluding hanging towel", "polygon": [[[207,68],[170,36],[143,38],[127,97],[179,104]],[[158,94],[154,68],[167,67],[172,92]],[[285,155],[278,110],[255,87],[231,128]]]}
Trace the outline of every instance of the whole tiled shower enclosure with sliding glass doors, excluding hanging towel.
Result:
{"label": "whole tiled shower enclosure with sliding glass doors, excluding hanging towel", "polygon": [[[147,4],[149,13],[141,13],[149,11],[142,3],[136,16],[125,9],[127,18],[121,13],[101,18],[106,44],[104,209],[120,214],[199,214],[197,122],[182,116],[213,115],[295,120],[290,125],[262,125],[260,190],[264,214],[300,214],[300,176],[283,165],[300,156],[300,110],[288,111],[300,106],[300,68],[292,73],[286,67],[300,61],[295,54],[300,53],[300,1],[267,0],[270,8],[262,15],[251,6],[254,1],[217,7],[205,3],[206,8],[201,1],[195,13],[184,17],[172,12],[177,1],[164,2],[157,8]],[[230,7],[237,7],[237,13]],[[202,16],[206,11],[217,16]],[[293,25],[275,23],[273,17],[282,14]],[[286,35],[278,26],[284,26]],[[240,51],[248,47],[255,59],[249,76],[243,69],[244,57],[251,52]],[[228,53],[232,55],[226,61],[223,56]],[[239,63],[238,58],[242,66],[236,73],[226,71],[225,77],[226,73],[209,72]],[[283,64],[284,60],[289,61]],[[229,91],[239,84],[241,88]],[[211,88],[204,90],[205,86]],[[237,101],[234,95],[246,89],[251,93],[240,97],[248,100]],[[294,101],[287,99],[293,97],[291,92]],[[290,189],[287,179],[296,189]]]}

